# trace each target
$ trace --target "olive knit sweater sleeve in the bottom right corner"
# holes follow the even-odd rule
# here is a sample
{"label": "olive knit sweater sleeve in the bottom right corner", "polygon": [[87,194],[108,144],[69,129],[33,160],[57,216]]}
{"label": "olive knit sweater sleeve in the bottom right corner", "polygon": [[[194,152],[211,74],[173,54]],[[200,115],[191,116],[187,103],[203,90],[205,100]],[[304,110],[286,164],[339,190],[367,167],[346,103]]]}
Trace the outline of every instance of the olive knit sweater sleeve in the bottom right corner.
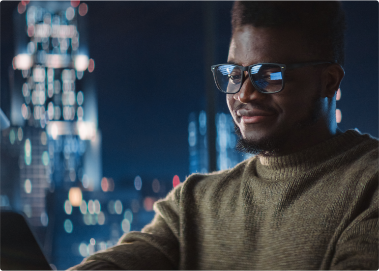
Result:
{"label": "olive knit sweater sleeve in the bottom right corner", "polygon": [[379,270],[379,197],[340,236],[330,271]]}

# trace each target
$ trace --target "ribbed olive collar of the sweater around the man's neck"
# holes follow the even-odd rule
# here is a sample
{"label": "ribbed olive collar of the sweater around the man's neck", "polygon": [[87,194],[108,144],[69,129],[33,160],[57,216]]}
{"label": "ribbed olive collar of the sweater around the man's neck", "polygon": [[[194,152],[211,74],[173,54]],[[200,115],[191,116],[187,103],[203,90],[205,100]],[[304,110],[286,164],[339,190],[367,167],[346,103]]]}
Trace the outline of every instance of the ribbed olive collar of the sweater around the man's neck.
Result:
{"label": "ribbed olive collar of the sweater around the man's neck", "polygon": [[256,159],[258,177],[272,181],[294,177],[347,151],[362,140],[360,133],[348,130],[299,152],[279,157],[259,157]]}

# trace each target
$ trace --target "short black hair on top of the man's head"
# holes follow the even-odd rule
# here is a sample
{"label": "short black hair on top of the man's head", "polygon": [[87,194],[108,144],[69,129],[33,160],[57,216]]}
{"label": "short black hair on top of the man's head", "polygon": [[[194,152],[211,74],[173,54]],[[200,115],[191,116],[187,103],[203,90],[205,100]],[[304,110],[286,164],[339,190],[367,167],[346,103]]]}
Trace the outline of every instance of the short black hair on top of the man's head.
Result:
{"label": "short black hair on top of the man's head", "polygon": [[239,27],[292,28],[319,60],[345,64],[345,12],[340,0],[235,0],[233,33]]}

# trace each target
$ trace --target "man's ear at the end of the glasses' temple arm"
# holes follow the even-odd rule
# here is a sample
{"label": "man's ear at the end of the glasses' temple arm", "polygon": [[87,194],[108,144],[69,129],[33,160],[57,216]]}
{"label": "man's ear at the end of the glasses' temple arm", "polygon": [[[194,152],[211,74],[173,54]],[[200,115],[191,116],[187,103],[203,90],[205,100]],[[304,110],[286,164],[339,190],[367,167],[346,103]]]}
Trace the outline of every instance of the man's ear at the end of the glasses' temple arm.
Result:
{"label": "man's ear at the end of the glasses' temple arm", "polygon": [[323,71],[323,96],[333,98],[337,90],[340,88],[345,71],[338,63],[329,64]]}

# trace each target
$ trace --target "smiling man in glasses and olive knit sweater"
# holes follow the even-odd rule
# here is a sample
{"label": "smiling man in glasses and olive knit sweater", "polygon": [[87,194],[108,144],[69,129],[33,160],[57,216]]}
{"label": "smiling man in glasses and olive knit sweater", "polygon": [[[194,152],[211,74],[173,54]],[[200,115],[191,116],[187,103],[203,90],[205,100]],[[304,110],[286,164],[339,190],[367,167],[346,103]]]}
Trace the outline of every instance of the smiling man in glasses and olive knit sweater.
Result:
{"label": "smiling man in glasses and olive knit sweater", "polygon": [[236,0],[226,92],[233,169],[194,174],[141,232],[73,270],[379,270],[379,141],[343,133],[338,0]]}

